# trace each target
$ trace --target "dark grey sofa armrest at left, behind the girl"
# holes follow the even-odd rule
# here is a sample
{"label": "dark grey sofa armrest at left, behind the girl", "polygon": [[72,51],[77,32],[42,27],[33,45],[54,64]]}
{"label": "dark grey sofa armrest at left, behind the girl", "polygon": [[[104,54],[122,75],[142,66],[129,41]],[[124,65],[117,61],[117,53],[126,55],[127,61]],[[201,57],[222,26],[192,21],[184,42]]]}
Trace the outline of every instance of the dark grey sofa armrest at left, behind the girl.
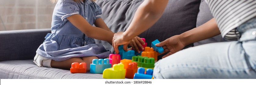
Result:
{"label": "dark grey sofa armrest at left, behind the girl", "polygon": [[0,61],[34,59],[51,29],[0,31]]}

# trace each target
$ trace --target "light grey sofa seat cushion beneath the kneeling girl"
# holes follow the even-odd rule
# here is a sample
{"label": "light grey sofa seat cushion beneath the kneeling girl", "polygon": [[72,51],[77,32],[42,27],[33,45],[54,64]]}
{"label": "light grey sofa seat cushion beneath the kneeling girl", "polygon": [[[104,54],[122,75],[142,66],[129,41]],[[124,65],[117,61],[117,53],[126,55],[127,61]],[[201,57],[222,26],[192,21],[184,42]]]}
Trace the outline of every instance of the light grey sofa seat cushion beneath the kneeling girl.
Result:
{"label": "light grey sofa seat cushion beneath the kneeling girl", "polygon": [[102,74],[38,67],[33,60],[1,61],[0,73],[0,79],[103,79]]}

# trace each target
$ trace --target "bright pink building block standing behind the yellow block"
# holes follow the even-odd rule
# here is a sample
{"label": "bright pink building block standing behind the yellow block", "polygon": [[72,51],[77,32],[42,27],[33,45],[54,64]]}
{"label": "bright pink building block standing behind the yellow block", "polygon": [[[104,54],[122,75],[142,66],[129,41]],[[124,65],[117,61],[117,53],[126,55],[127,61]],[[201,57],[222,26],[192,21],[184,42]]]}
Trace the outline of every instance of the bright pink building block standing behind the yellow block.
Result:
{"label": "bright pink building block standing behind the yellow block", "polygon": [[113,67],[114,64],[120,63],[120,55],[119,54],[110,54],[109,55],[109,63],[111,63],[111,67]]}

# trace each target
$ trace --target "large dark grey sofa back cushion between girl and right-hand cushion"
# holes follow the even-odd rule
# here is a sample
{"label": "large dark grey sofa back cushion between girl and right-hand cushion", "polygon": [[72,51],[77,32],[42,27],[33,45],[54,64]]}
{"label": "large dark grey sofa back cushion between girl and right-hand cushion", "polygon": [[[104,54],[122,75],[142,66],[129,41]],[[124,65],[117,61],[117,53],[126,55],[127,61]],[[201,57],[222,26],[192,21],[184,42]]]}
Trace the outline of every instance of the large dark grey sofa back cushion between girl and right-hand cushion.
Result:
{"label": "large dark grey sofa back cushion between girl and right-hand cushion", "polygon": [[[125,31],[128,28],[136,9],[142,2],[143,0],[96,1],[102,8],[103,20],[113,32]],[[161,42],[195,28],[199,5],[200,0],[169,0],[161,18],[139,37],[145,38],[147,43],[156,39]],[[106,49],[114,53],[113,47],[108,42],[96,40],[96,43],[103,43]]]}

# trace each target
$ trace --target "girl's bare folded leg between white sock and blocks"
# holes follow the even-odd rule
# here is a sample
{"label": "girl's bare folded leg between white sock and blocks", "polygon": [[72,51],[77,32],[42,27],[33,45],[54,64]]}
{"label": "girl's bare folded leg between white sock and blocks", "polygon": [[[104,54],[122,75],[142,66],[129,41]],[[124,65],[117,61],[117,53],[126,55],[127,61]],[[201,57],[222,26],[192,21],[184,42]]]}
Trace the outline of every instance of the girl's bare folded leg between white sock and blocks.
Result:
{"label": "girl's bare folded leg between white sock and blocks", "polygon": [[53,68],[60,68],[60,69],[67,69],[70,70],[71,68],[71,64],[74,62],[78,62],[78,63],[83,63],[85,62],[87,65],[87,70],[90,71],[90,64],[92,63],[93,59],[98,59],[98,57],[96,56],[88,56],[88,57],[75,57],[75,58],[70,58],[68,60],[64,60],[64,61],[51,61],[51,66]]}

